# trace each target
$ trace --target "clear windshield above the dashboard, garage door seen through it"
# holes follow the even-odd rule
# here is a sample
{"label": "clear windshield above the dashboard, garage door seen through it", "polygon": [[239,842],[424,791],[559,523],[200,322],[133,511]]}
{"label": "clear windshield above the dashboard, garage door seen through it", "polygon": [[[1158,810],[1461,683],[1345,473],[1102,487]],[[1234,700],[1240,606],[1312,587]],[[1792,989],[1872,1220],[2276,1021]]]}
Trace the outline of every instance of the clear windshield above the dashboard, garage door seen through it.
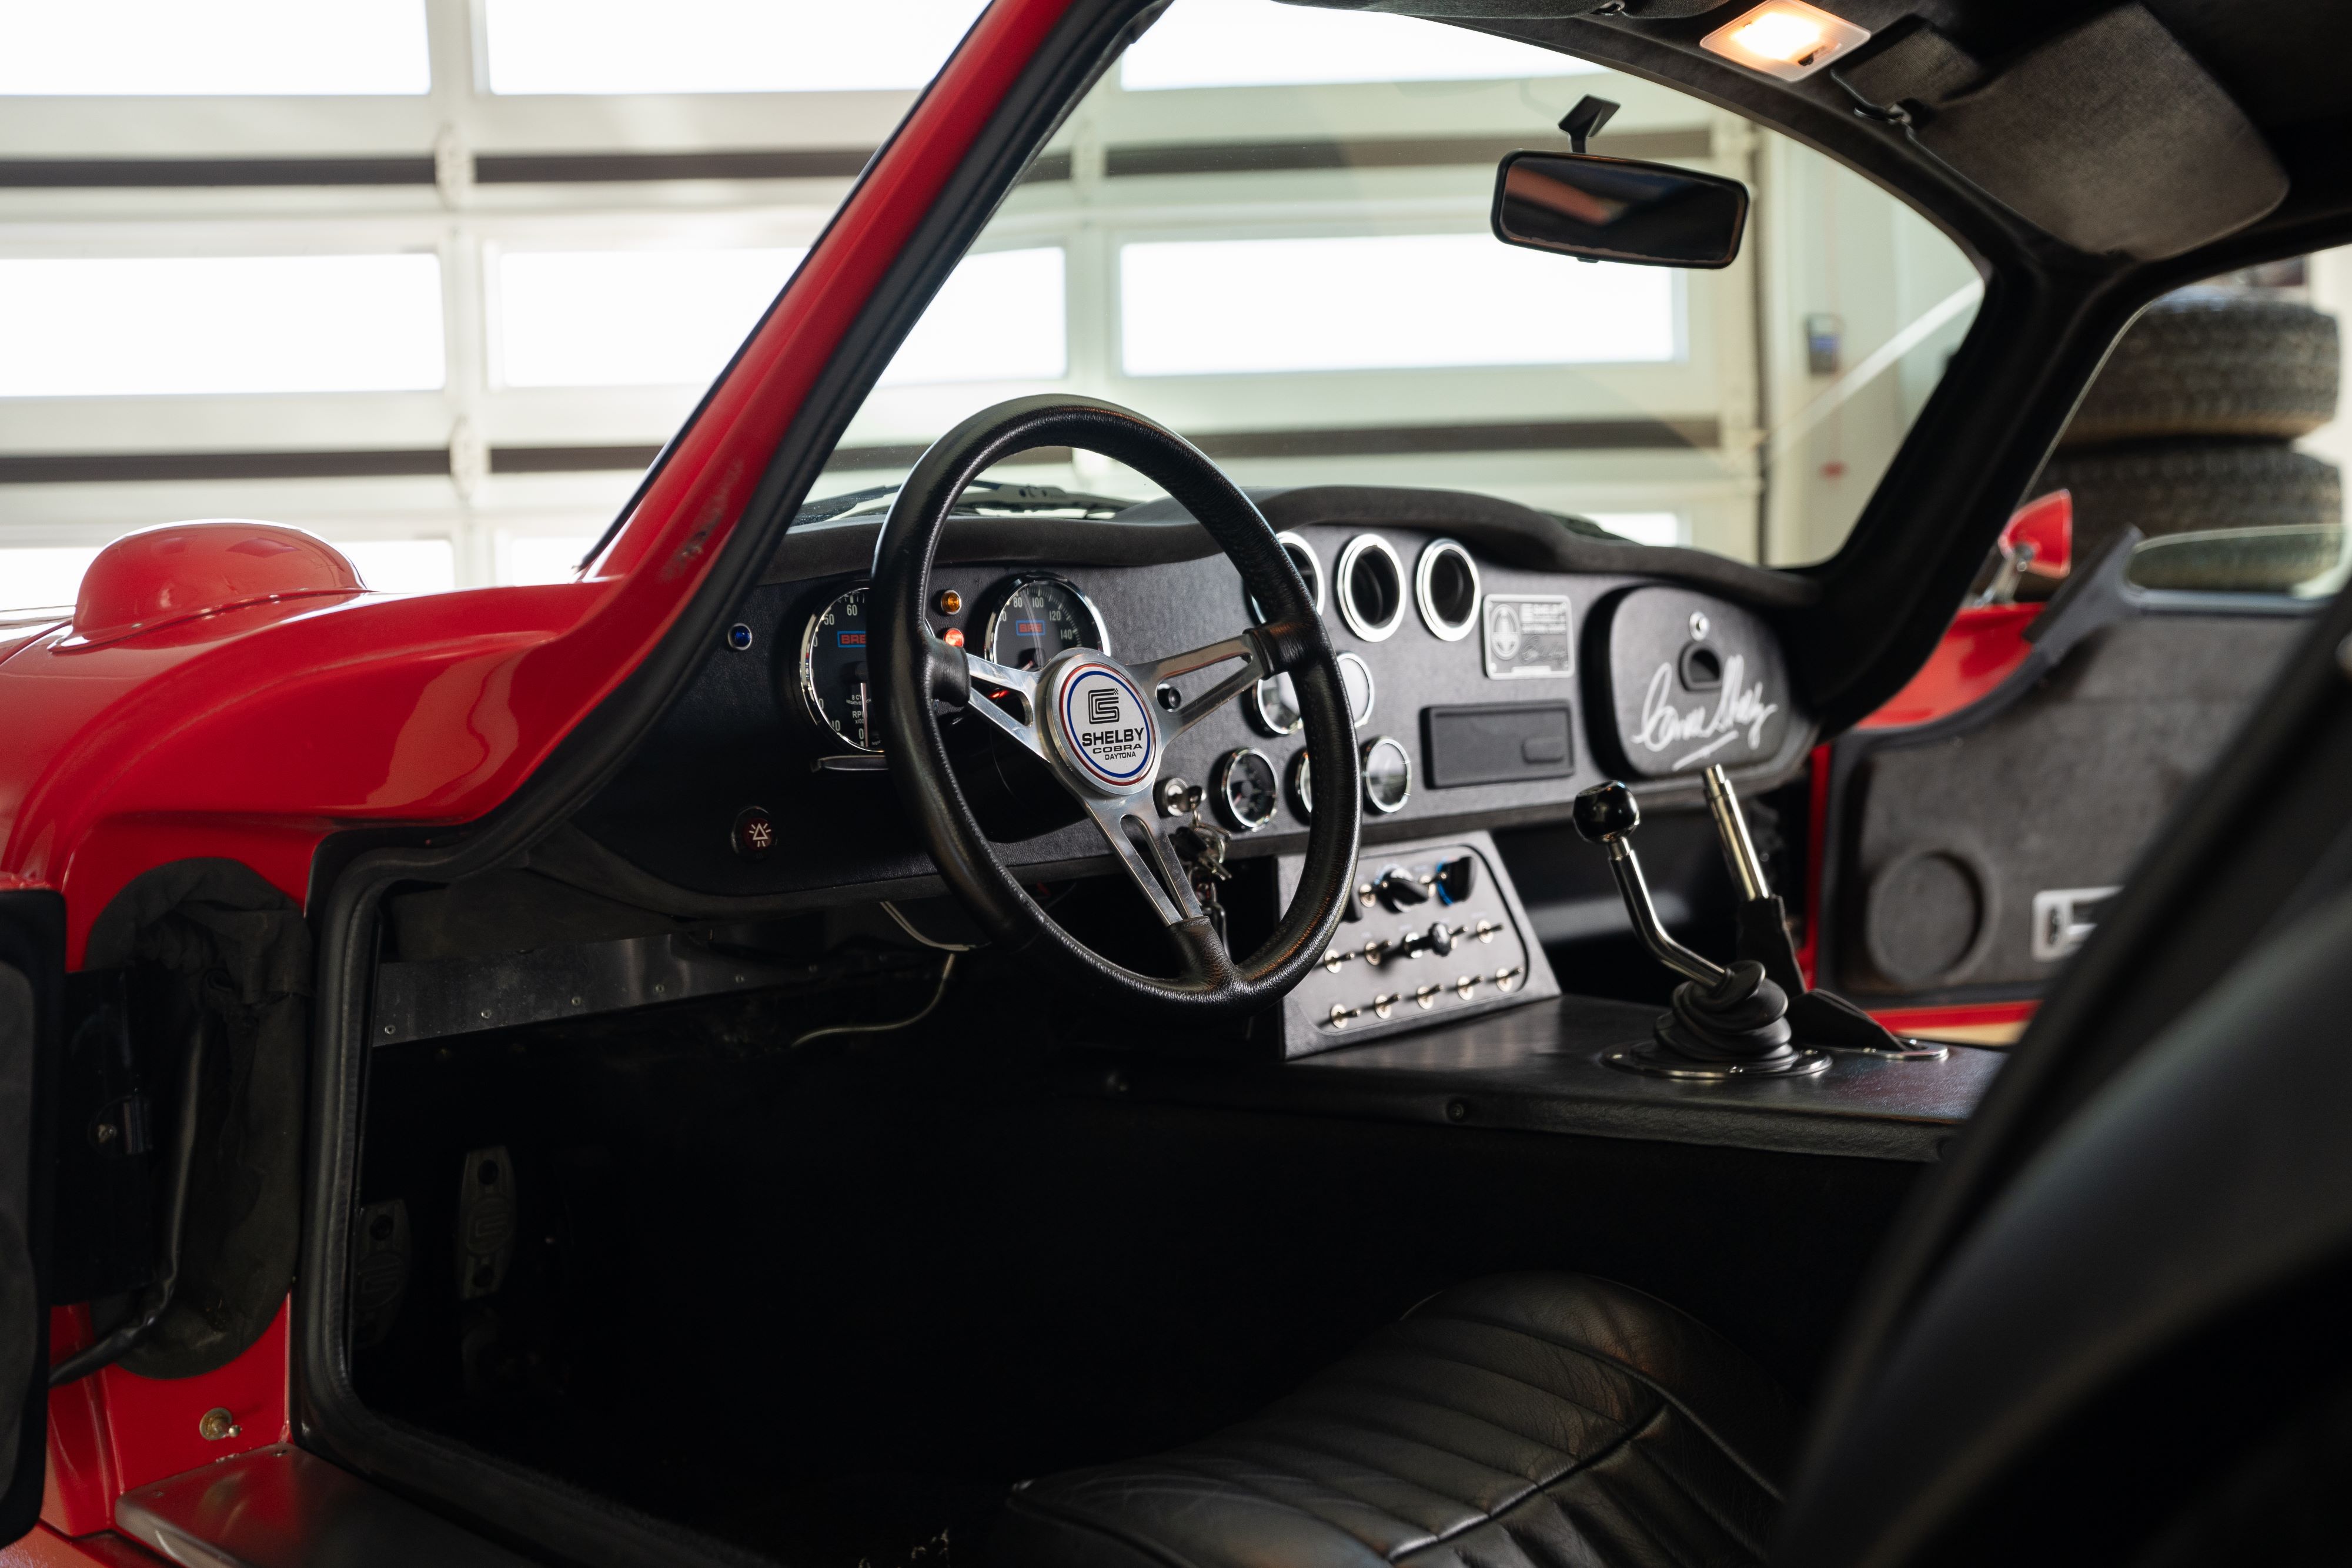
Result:
{"label": "clear windshield above the dashboard, garage door seen through it", "polygon": [[[1724,270],[1489,233],[1496,160],[1566,148],[1750,186]],[[1750,562],[1837,550],[1978,277],[1860,176],[1693,96],[1423,19],[1176,0],[938,292],[814,494],[906,475],[988,402],[1129,404],[1251,487],[1475,489]],[[1094,454],[997,475],[1148,498]]]}

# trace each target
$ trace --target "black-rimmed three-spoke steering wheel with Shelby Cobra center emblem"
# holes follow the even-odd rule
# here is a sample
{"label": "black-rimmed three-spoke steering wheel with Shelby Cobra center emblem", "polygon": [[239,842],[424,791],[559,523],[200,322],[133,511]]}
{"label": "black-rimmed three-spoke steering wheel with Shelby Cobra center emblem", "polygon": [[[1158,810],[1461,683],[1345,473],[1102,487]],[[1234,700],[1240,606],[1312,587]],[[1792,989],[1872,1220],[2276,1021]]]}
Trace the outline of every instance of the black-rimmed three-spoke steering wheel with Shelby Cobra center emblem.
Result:
{"label": "black-rimmed three-spoke steering wheel with Shelby Cobra center emblem", "polygon": [[[1101,451],[1167,489],[1225,548],[1265,623],[1136,665],[1096,649],[1070,649],[1042,670],[1009,670],[943,642],[927,607],[931,555],[948,512],[981,473],[1033,447]],[[898,491],[875,550],[873,607],[882,639],[882,736],[898,797],[948,886],[1000,947],[1035,954],[1047,969],[1162,1018],[1202,1023],[1263,1009],[1322,961],[1355,884],[1362,827],[1348,693],[1331,637],[1291,557],[1249,496],[1197,447],[1141,414],[1091,397],[1016,397],[983,409],[938,437]],[[1240,668],[1178,712],[1162,712],[1152,701],[1160,682],[1221,663]],[[1315,811],[1291,907],[1263,947],[1237,959],[1225,952],[1190,877],[1160,837],[1152,783],[1176,736],[1284,670],[1298,689],[1310,755],[1331,762],[1310,771]],[[993,701],[976,686],[1004,696]],[[995,724],[1077,797],[1174,938],[1178,978],[1112,964],[1037,907],[974,818],[948,764],[934,703]]]}

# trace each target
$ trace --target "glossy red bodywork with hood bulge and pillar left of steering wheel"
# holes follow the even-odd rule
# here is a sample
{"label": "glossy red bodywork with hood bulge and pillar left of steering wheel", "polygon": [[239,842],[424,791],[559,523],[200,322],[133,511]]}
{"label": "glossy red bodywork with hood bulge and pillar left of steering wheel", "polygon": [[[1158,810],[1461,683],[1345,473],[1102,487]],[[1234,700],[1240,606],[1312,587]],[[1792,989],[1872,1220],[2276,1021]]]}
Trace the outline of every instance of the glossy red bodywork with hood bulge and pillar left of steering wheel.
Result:
{"label": "glossy red bodywork with hood bulge and pillar left of steering wheel", "polygon": [[[579,581],[383,597],[306,559],[252,592],[223,559],[282,550],[285,531],[212,524],[195,548],[214,559],[195,571],[188,529],[181,550],[160,548],[162,529],[92,569],[85,595],[148,607],[136,630],[5,632],[0,886],[64,893],[68,966],[99,910],[167,860],[242,860],[301,900],[329,835],[456,827],[513,795],[661,642],[828,355],[1063,9],[997,0],[978,19]],[[61,1307],[52,1335],[54,1356],[87,1342],[87,1312]],[[202,1436],[209,1410],[238,1434]],[[42,1528],[5,1556],[111,1563],[68,1537],[106,1530],[118,1495],[287,1441],[285,1312],[216,1373],[106,1368],[56,1389],[49,1422]]]}

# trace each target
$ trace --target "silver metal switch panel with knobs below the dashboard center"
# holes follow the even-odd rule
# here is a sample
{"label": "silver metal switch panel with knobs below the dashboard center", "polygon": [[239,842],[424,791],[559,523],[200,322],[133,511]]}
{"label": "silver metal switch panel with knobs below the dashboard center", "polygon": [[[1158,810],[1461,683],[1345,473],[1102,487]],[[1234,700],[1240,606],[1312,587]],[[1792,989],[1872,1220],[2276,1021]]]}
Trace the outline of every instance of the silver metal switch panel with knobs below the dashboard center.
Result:
{"label": "silver metal switch panel with knobs below the dashboard center", "polygon": [[[1298,886],[1298,856],[1279,884]],[[1364,849],[1348,919],[1282,1004],[1284,1056],[1334,1051],[1559,994],[1484,832]]]}

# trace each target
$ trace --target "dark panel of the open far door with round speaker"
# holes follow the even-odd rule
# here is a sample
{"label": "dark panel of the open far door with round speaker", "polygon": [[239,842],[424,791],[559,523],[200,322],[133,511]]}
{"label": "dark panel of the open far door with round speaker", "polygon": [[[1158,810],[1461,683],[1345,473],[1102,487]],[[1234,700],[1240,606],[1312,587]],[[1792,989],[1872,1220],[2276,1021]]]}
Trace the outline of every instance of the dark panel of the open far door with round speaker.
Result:
{"label": "dark panel of the open far door with round speaker", "polygon": [[1823,983],[1870,1006],[2039,994],[2305,625],[2140,609],[2023,693],[1839,738]]}

